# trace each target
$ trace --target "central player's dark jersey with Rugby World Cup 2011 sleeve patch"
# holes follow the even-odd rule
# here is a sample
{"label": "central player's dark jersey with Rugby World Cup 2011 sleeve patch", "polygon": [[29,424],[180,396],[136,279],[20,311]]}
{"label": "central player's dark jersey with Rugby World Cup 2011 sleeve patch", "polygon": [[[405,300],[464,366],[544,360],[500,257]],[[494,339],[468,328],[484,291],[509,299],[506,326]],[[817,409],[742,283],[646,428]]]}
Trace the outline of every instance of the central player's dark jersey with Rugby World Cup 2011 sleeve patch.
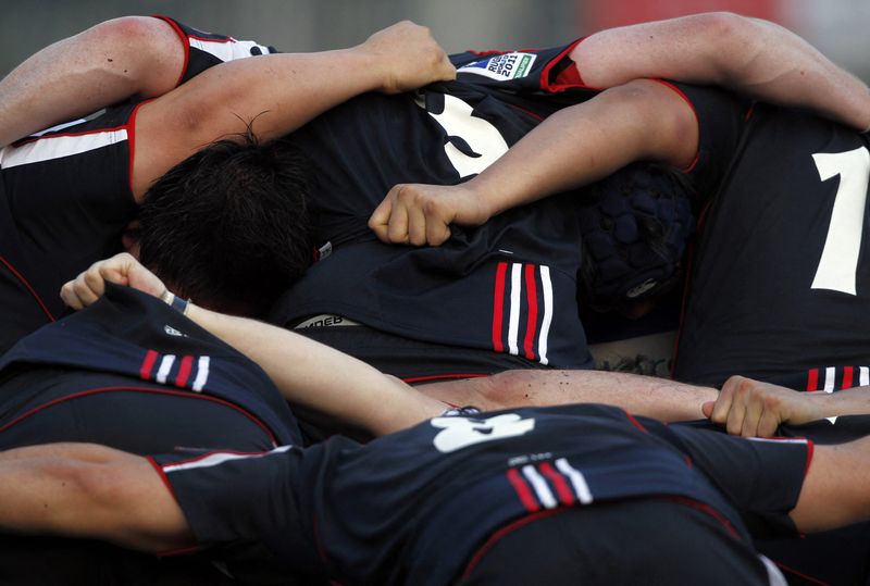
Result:
{"label": "central player's dark jersey with Rugby World Cup 2011 sleeve patch", "polygon": [[[509,210],[480,227],[453,226],[435,248],[388,246],[366,225],[394,185],[465,180],[554,111],[594,96],[564,73],[575,71],[567,57],[572,48],[456,55],[456,82],[412,95],[364,95],[297,133],[318,177],[311,200],[321,260],[271,321],[294,326],[338,314],[413,340],[519,357],[530,367],[589,367],[576,301],[579,192]],[[707,191],[720,174],[720,159],[709,153],[736,142],[738,109],[714,90],[675,89],[698,112],[700,160],[691,173]]]}

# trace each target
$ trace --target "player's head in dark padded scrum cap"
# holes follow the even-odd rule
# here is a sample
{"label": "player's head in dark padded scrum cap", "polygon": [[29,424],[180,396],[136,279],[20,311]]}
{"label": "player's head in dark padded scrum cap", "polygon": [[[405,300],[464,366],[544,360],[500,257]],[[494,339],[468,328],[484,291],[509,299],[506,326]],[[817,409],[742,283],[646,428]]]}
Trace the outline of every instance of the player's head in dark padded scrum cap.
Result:
{"label": "player's head in dark padded scrum cap", "polygon": [[684,177],[635,163],[589,186],[583,202],[584,303],[618,308],[667,292],[695,230]]}

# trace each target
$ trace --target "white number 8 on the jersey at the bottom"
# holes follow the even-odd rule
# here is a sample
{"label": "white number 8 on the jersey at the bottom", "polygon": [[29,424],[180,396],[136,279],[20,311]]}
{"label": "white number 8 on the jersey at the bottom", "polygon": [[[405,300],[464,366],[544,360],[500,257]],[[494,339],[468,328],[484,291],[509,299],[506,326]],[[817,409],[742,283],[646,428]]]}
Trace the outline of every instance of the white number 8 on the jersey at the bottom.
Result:
{"label": "white number 8 on the jersey at the bottom", "polygon": [[489,419],[435,417],[433,427],[440,427],[432,444],[439,452],[461,450],[475,444],[517,437],[535,428],[535,420],[524,420],[517,413]]}

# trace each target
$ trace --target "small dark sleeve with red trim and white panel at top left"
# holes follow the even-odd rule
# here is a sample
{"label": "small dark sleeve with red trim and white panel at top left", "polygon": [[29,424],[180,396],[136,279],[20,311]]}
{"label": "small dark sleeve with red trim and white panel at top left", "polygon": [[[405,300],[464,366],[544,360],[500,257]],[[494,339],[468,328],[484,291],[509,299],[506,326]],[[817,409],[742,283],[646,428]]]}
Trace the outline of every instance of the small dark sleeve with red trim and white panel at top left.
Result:
{"label": "small dark sleeve with red trim and white panel at top left", "polygon": [[225,35],[206,33],[169,16],[156,14],[154,17],[172,26],[184,47],[184,68],[177,85],[184,84],[220,63],[278,52],[272,46],[261,45],[253,40],[237,40]]}

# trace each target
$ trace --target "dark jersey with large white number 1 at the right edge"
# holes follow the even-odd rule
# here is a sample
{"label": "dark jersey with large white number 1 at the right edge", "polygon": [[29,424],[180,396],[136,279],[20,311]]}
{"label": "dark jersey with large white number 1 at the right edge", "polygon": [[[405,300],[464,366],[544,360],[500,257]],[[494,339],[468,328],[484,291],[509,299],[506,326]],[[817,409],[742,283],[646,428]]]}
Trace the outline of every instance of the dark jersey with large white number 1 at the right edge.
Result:
{"label": "dark jersey with large white number 1 at the right edge", "polygon": [[870,384],[868,146],[824,120],[756,110],[703,229],[678,378]]}

